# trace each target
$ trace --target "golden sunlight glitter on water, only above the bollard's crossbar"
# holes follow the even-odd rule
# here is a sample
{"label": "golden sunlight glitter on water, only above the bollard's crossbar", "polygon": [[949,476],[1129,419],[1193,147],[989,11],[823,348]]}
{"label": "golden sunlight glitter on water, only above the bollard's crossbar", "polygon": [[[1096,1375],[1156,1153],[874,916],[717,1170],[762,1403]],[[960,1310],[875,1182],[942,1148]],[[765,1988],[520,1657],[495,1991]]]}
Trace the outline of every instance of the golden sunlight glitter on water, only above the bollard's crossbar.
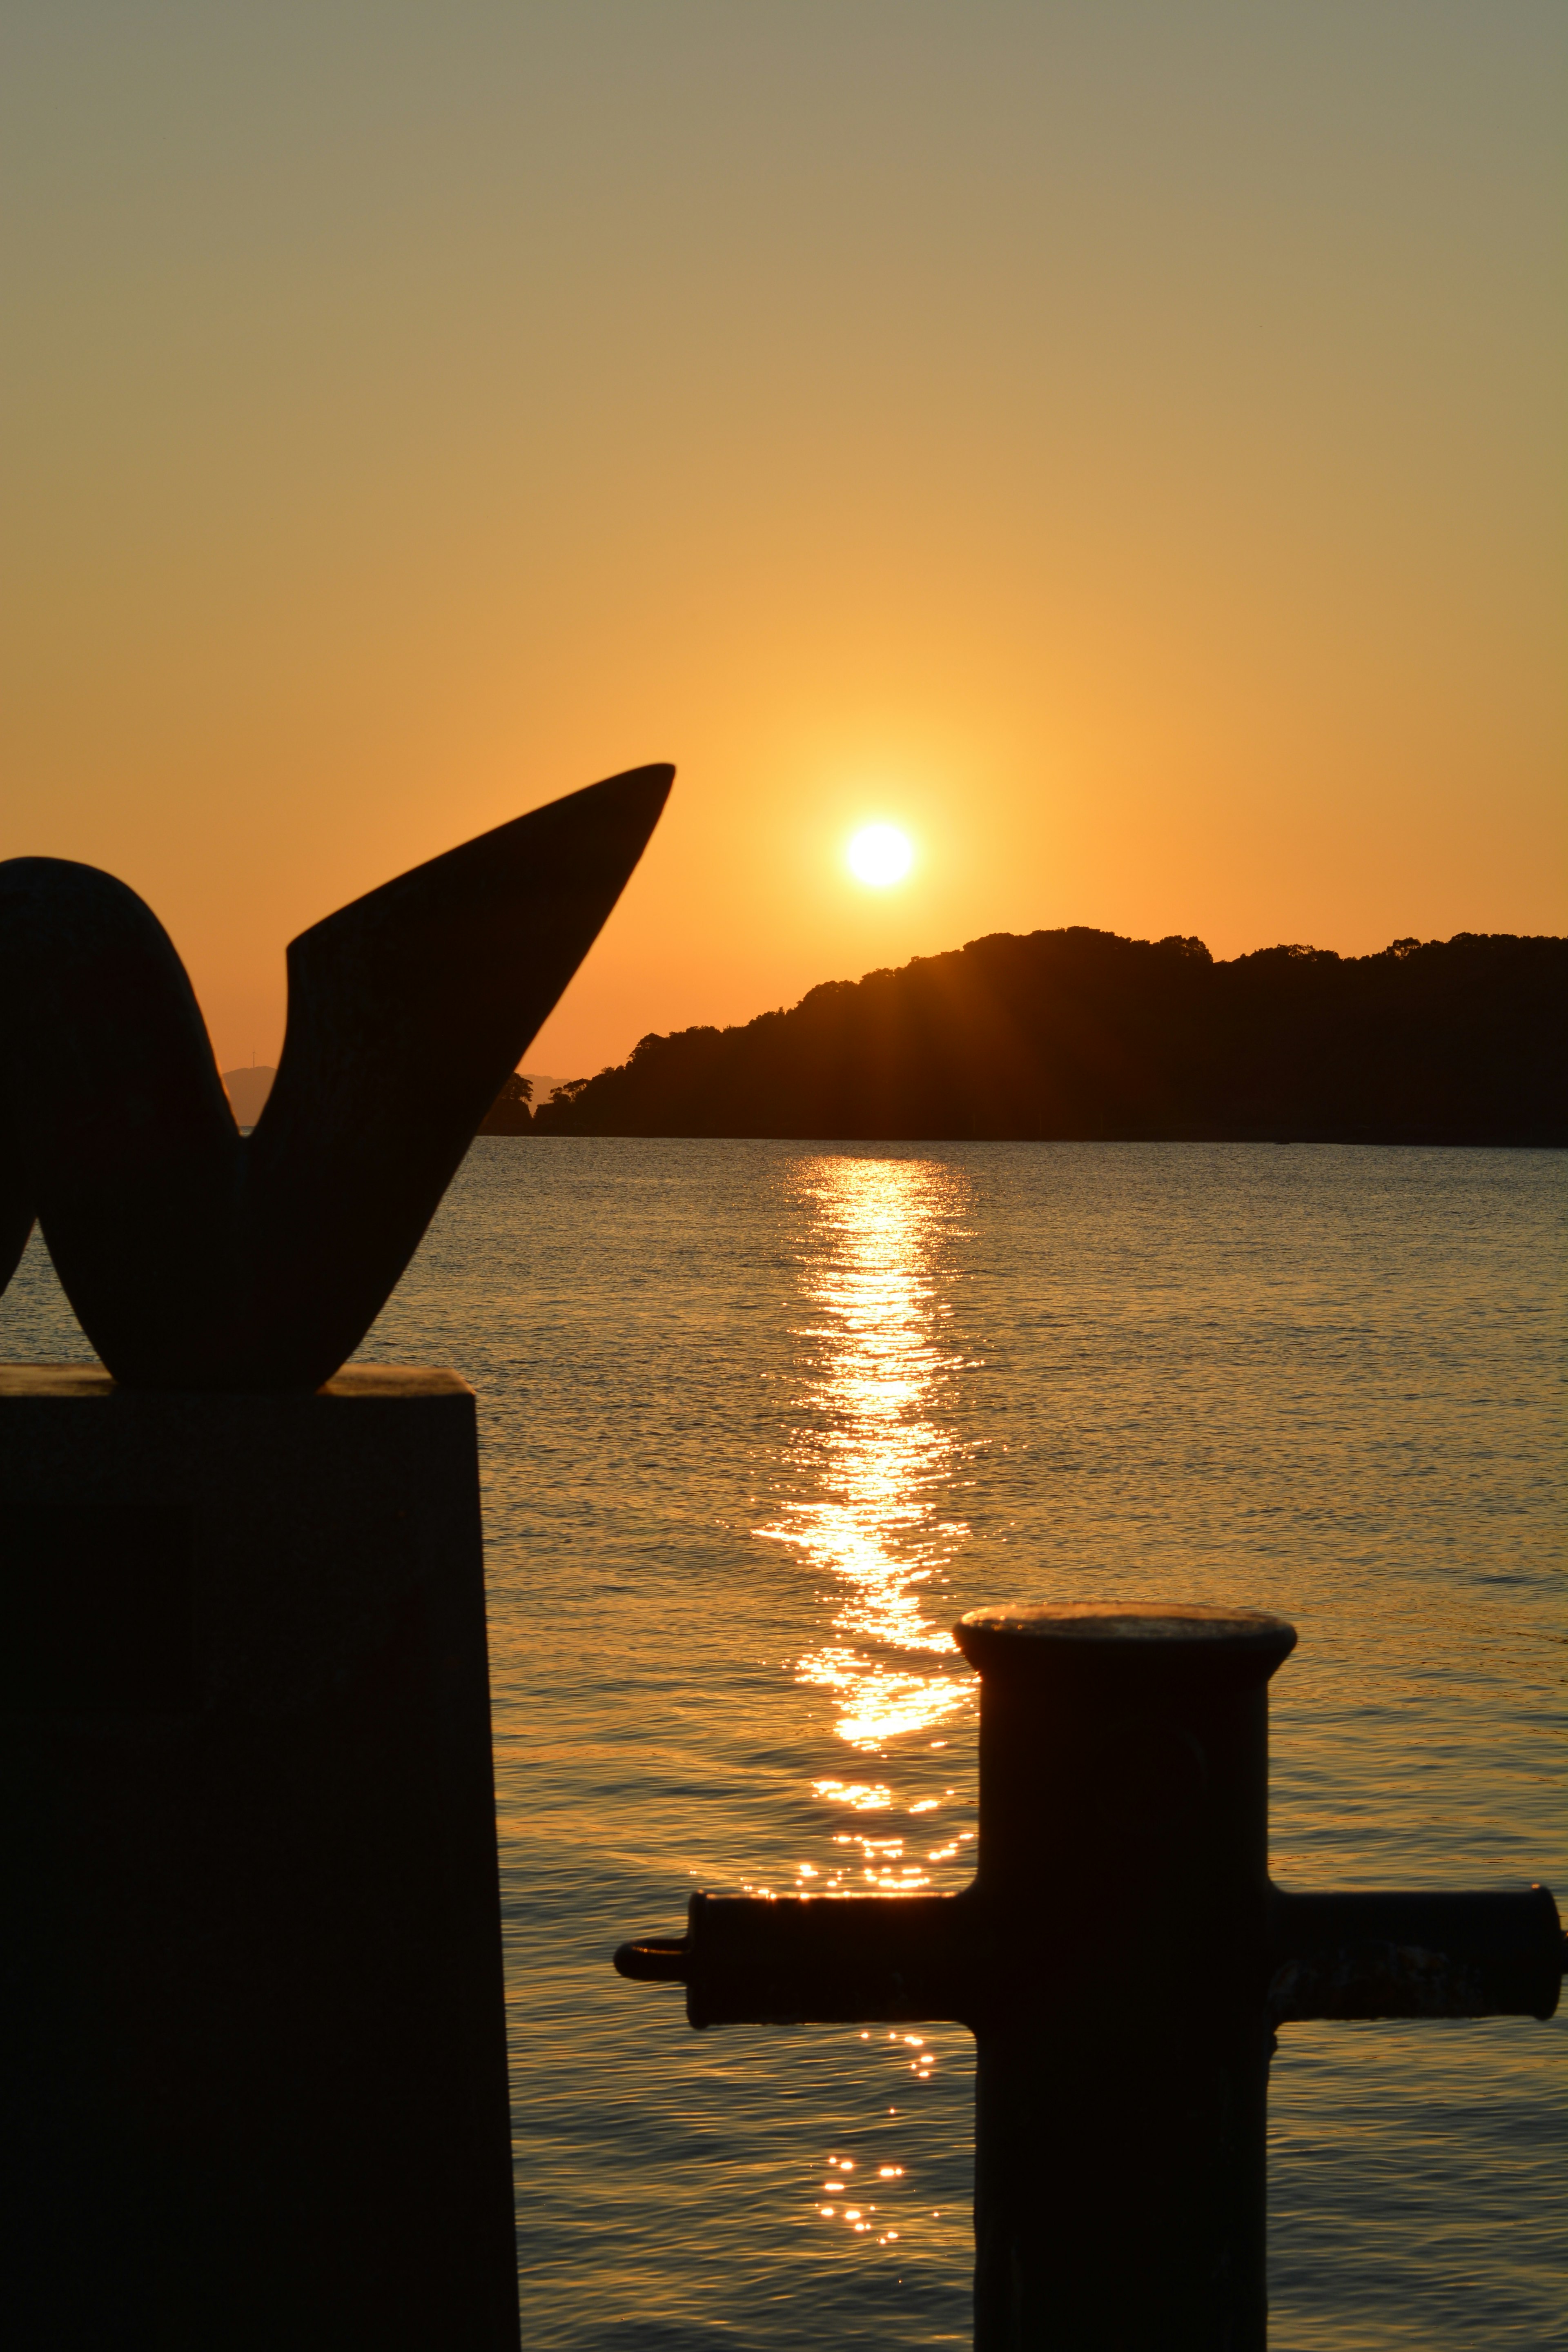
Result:
{"label": "golden sunlight glitter on water, only above the bollard's crossbar", "polygon": [[[943,1341],[940,1268],[966,1197],[964,1176],[931,1162],[818,1160],[802,1171],[809,1319],[797,1329],[788,1437],[795,1494],[757,1536],[792,1545],[827,1578],[830,1632],[797,1661],[797,1675],[835,1693],[837,1733],[863,1757],[938,1731],[971,1705],[969,1677],[954,1672],[945,1592],[931,1590],[969,1534],[952,1512],[966,1449],[945,1392],[964,1357]],[[818,1780],[816,1795],[851,1816],[893,1809],[884,1780]],[[924,1797],[905,1811],[940,1804]],[[924,1865],[905,1860],[903,1837],[877,1837],[867,1823],[835,1842],[860,1849],[860,1884],[929,1884]],[[954,1851],[936,1846],[924,1860]],[[823,1875],[802,1865],[802,1884],[811,1879]],[[842,1882],[842,1872],[825,1879]]]}

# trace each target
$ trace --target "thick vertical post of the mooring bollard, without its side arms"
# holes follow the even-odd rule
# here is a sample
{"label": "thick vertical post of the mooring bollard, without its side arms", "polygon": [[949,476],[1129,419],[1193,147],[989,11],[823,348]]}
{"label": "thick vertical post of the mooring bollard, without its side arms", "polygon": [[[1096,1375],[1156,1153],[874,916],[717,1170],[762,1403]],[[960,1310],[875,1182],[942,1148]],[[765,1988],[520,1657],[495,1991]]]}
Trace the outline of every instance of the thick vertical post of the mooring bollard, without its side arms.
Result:
{"label": "thick vertical post of the mooring bollard, without its side arms", "polygon": [[1279,1618],[1001,1611],[980,1668],[976,2340],[1265,2340]]}

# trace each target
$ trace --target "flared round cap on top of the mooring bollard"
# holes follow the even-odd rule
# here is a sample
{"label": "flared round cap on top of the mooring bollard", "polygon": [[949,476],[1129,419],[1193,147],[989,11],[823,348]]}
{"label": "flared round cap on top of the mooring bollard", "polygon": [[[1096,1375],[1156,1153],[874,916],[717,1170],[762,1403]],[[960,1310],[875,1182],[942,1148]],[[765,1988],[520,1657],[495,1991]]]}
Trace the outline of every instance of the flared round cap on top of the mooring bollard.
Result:
{"label": "flared round cap on top of the mooring bollard", "polygon": [[1143,1656],[1150,1663],[1199,1665],[1237,1661],[1272,1672],[1295,1649],[1295,1625],[1267,1609],[1211,1609],[1204,1602],[997,1602],[971,1609],[952,1637],[980,1672],[1044,1663],[1056,1653],[1107,1665]]}

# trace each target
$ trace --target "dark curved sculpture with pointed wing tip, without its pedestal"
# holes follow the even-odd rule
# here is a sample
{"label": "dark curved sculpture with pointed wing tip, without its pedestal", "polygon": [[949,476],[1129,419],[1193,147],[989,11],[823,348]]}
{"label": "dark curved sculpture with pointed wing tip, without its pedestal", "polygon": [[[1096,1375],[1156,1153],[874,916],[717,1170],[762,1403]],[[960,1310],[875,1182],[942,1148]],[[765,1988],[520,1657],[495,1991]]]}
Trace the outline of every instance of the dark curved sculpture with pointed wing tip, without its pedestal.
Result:
{"label": "dark curved sculpture with pointed wing tip, without its pedestal", "polygon": [[252,1136],[141,898],[92,866],[0,863],[0,1289],[38,1216],[122,1385],[320,1388],[414,1256],[672,776],[611,776],[303,931]]}

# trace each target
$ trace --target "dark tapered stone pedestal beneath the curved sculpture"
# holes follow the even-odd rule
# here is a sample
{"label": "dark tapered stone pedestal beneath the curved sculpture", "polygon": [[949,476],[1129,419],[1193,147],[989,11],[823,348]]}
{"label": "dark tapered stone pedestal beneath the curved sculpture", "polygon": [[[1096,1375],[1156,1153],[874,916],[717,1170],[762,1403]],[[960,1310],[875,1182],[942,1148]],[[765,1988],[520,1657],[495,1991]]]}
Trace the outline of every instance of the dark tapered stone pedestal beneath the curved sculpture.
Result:
{"label": "dark tapered stone pedestal beneath the curved sculpture", "polygon": [[0,1369],[19,2352],[515,2352],[473,1392]]}

